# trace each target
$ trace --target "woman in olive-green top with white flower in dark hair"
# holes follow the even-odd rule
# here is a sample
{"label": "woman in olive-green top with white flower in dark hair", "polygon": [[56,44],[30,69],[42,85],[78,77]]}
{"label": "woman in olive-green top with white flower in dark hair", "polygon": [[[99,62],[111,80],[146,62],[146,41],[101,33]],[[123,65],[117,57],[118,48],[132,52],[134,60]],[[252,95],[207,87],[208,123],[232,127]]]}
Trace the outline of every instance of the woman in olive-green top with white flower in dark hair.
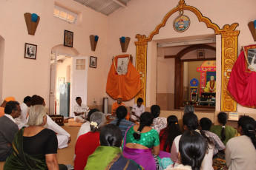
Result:
{"label": "woman in olive-green top with white flower in dark hair", "polygon": [[220,112],[217,115],[217,120],[220,125],[214,125],[211,127],[211,132],[218,135],[220,140],[226,146],[226,143],[234,136],[237,135],[237,130],[234,129],[232,126],[227,126],[226,122],[228,121],[228,115],[226,112]]}

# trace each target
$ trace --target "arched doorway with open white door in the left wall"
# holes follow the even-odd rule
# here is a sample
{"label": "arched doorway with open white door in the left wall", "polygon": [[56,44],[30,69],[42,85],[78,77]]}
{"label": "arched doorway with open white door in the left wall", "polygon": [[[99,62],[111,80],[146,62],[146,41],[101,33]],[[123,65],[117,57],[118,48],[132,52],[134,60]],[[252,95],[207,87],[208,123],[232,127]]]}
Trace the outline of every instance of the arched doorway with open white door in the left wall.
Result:
{"label": "arched doorway with open white door in the left wall", "polygon": [[[74,89],[82,89],[79,96],[87,100],[88,57],[62,44],[52,48],[50,55],[50,114],[73,116]],[[82,86],[82,87],[81,87]]]}

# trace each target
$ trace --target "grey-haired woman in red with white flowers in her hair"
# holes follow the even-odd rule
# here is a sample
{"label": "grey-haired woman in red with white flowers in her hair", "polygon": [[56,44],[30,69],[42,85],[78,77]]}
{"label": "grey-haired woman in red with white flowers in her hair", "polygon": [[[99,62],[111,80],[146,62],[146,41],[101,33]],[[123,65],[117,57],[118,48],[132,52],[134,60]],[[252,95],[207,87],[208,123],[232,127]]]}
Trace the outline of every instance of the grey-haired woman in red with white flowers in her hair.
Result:
{"label": "grey-haired woman in red with white flowers in her hair", "polygon": [[90,118],[91,132],[79,136],[76,141],[74,169],[85,169],[88,156],[99,146],[99,132],[106,123],[102,112],[94,112]]}

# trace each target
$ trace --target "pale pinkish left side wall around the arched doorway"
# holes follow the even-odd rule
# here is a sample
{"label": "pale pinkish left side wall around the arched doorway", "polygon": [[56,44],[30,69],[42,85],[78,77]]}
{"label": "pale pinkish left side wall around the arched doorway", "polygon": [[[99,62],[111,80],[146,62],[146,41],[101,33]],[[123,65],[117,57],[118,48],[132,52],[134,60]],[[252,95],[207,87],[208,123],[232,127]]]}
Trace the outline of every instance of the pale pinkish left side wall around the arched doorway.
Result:
{"label": "pale pinkish left side wall around the arched doorway", "polygon": [[[41,95],[49,106],[50,53],[63,44],[64,30],[73,32],[73,47],[81,56],[98,57],[97,68],[88,69],[88,104],[96,98],[102,103],[105,88],[104,70],[107,57],[108,18],[72,0],[57,0],[62,7],[79,13],[79,24],[68,24],[53,17],[53,0],[0,0],[0,35],[4,42],[4,74],[2,98],[14,96],[22,101],[27,95]],[[24,13],[40,16],[35,35],[27,34]],[[91,51],[89,35],[98,35],[96,51]],[[36,44],[36,60],[24,58],[24,43]]]}

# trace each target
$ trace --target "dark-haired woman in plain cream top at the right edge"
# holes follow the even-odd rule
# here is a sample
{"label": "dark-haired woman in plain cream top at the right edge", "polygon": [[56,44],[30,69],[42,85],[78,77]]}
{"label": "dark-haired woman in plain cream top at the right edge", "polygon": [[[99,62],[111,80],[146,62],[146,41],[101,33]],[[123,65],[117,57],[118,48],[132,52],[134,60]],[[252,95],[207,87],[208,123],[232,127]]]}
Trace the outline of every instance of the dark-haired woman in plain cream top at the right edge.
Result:
{"label": "dark-haired woman in plain cream top at the right edge", "polygon": [[238,120],[240,137],[233,137],[226,144],[226,166],[232,170],[256,168],[255,120],[243,116]]}

